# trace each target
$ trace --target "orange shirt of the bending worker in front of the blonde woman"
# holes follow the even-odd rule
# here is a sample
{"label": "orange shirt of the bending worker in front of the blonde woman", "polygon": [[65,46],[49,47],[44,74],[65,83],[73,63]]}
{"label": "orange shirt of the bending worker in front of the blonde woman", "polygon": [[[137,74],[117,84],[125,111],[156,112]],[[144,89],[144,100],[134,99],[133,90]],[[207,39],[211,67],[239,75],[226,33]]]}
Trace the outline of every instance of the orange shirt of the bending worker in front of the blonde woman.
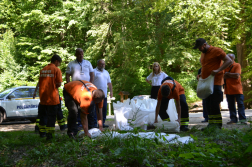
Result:
{"label": "orange shirt of the bending worker in front of the blonde woman", "polygon": [[161,88],[164,85],[168,85],[171,89],[171,93],[170,95],[167,97],[168,99],[175,99],[175,100],[180,100],[179,95],[185,94],[184,88],[180,85],[180,83],[178,83],[177,81],[175,81],[176,87],[174,88],[174,90],[172,91],[172,88],[174,86],[173,81],[172,80],[166,80],[164,81],[164,83],[160,86],[160,89],[158,91],[158,100],[161,101],[163,96],[161,93]]}

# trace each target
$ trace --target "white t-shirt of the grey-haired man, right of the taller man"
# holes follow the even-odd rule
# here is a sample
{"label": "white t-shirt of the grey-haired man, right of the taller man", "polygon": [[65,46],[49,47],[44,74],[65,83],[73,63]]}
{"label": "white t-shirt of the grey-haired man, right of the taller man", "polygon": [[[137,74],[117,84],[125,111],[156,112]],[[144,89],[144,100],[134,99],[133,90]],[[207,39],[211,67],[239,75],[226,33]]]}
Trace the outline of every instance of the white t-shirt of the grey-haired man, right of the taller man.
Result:
{"label": "white t-shirt of the grey-haired man, right of the taller man", "polygon": [[110,76],[107,70],[100,71],[96,67],[94,69],[94,85],[97,89],[102,89],[105,97],[107,97],[107,86],[108,83],[111,83]]}

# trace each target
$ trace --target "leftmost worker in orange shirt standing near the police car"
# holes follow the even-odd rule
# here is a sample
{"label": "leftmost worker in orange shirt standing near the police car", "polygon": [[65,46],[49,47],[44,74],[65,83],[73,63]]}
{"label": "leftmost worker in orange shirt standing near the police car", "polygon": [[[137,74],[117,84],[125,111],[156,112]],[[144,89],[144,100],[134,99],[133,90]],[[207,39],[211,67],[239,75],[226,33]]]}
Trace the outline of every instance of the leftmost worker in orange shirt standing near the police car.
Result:
{"label": "leftmost worker in orange shirt standing near the police car", "polygon": [[60,104],[58,87],[62,82],[62,74],[58,68],[61,61],[58,55],[54,55],[51,64],[45,66],[39,76],[40,137],[46,136],[46,140],[52,139],[55,131],[58,104]]}

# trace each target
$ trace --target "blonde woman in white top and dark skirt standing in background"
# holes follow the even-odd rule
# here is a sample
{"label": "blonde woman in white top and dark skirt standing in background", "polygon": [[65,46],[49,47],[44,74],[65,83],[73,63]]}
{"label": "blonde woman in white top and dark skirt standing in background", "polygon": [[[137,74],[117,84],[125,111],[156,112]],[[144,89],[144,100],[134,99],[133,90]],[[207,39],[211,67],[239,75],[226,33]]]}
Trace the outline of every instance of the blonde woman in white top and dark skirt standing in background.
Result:
{"label": "blonde woman in white top and dark skirt standing in background", "polygon": [[161,81],[168,77],[168,75],[161,70],[158,62],[154,62],[152,66],[153,72],[146,78],[146,82],[149,83],[151,87],[151,98],[157,99],[158,90],[161,85]]}

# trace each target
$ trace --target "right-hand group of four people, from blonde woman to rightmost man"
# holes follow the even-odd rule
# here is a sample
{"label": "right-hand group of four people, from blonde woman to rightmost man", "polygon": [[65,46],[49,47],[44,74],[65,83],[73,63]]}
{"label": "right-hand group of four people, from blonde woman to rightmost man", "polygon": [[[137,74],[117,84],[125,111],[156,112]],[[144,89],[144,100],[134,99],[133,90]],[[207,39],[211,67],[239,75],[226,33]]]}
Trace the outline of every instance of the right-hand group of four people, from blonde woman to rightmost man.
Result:
{"label": "right-hand group of four people, from blonde woman to rightmost man", "polygon": [[[221,48],[208,45],[205,39],[199,38],[195,42],[193,49],[201,51],[201,69],[197,78],[205,79],[210,75],[214,76],[213,94],[203,99],[203,114],[209,127],[222,128],[222,116],[220,103],[223,101],[222,86],[227,97],[230,121],[227,124],[238,122],[235,100],[238,106],[238,115],[240,123],[246,124],[245,107],[243,104],[244,96],[241,84],[241,66],[234,61],[234,54],[226,54]],[[156,117],[158,115],[162,120],[169,120],[167,106],[170,99],[175,99],[178,113],[178,122],[180,130],[189,130],[188,105],[186,103],[184,88],[173,78],[161,71],[160,65],[153,64],[153,72],[146,78],[146,81],[152,85],[151,98],[157,98]],[[202,130],[205,130],[203,128]]]}

